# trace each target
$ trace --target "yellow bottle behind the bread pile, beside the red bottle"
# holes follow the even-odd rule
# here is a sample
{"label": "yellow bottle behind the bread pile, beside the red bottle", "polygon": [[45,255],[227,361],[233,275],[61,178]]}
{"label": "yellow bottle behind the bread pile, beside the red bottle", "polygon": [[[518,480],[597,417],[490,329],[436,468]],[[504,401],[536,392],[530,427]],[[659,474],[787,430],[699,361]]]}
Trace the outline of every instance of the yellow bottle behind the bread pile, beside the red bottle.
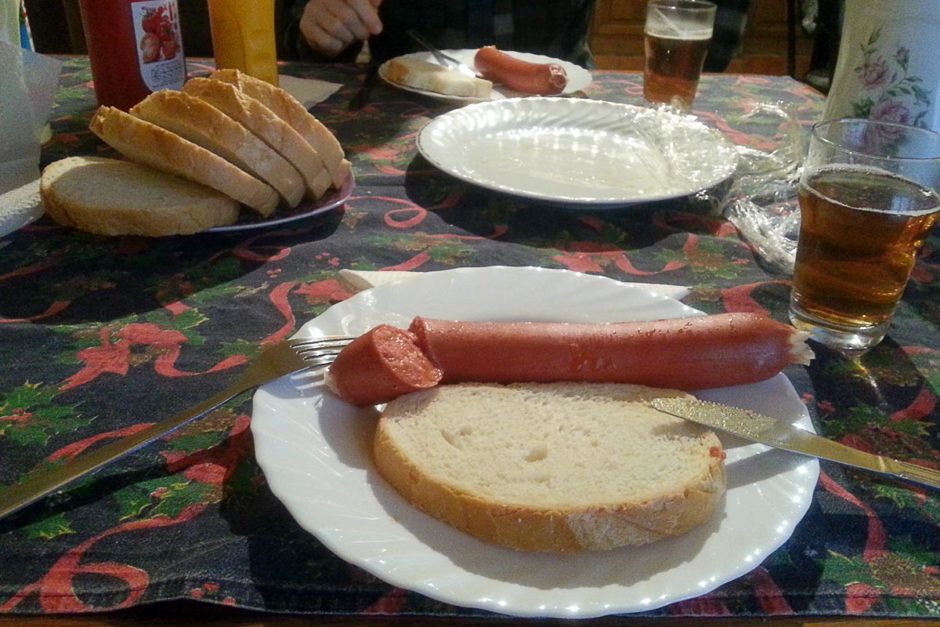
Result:
{"label": "yellow bottle behind the bread pile, beside the red bottle", "polygon": [[277,85],[274,0],[209,0],[209,20],[217,67]]}

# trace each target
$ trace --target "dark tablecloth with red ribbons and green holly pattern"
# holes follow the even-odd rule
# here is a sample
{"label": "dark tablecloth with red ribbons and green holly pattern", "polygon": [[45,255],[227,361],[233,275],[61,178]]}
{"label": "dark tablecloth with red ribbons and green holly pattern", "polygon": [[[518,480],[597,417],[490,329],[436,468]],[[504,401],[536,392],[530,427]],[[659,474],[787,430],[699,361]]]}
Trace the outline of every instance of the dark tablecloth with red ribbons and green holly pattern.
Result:
{"label": "dark tablecloth with red ribbons and green holly pattern", "polygon": [[[190,67],[199,70],[198,64]],[[476,189],[416,153],[446,103],[372,87],[365,70],[285,66],[343,87],[313,111],[346,148],[344,207],[286,225],[158,240],[40,220],[0,239],[0,486],[134,432],[221,390],[259,347],[347,298],[342,268],[567,268],[686,285],[707,312],[786,320],[789,283],[691,200],[572,211]],[[94,98],[70,59],[45,163],[110,154],[87,131]],[[596,72],[586,97],[642,104],[639,76]],[[772,147],[754,99],[804,125],[822,97],[787,77],[703,79],[696,114]],[[940,465],[940,254],[930,238],[888,339],[860,363],[820,351],[787,370],[817,428],[858,448]],[[275,499],[252,452],[251,395],[0,521],[0,613],[107,611],[189,599],[270,612],[482,616],[348,565]],[[2,495],[0,495],[2,498]],[[936,492],[822,463],[813,504],[749,574],[647,616],[940,616]]]}

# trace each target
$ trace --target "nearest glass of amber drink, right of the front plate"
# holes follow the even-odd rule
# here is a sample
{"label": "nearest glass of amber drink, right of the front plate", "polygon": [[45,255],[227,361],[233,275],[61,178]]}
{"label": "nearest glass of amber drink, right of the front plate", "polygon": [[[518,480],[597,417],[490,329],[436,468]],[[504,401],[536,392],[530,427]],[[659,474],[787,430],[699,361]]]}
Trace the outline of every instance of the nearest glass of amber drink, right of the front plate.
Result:
{"label": "nearest glass of amber drink, right of the front plate", "polygon": [[871,169],[820,170],[800,187],[793,300],[843,327],[886,323],[915,256],[940,216],[940,196]]}

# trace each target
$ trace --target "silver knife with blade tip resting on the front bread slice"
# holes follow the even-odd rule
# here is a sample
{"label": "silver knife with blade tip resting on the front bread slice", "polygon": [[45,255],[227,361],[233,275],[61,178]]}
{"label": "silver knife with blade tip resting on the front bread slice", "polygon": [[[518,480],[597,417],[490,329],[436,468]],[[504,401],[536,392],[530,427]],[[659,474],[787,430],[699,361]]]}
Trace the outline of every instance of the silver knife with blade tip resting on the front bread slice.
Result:
{"label": "silver knife with blade tip resting on the front bread slice", "polygon": [[693,398],[656,398],[650,405],[745,440],[940,488],[940,472],[936,470],[866,453],[754,411]]}

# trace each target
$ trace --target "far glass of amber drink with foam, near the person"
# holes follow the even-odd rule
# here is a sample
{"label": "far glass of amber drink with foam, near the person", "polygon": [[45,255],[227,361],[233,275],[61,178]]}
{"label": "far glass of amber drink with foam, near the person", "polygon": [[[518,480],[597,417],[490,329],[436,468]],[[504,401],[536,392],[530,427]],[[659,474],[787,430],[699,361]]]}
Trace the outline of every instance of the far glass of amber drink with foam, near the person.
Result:
{"label": "far glass of amber drink with foam, near the person", "polygon": [[706,0],[649,0],[643,27],[643,96],[689,111],[712,38],[716,6]]}

